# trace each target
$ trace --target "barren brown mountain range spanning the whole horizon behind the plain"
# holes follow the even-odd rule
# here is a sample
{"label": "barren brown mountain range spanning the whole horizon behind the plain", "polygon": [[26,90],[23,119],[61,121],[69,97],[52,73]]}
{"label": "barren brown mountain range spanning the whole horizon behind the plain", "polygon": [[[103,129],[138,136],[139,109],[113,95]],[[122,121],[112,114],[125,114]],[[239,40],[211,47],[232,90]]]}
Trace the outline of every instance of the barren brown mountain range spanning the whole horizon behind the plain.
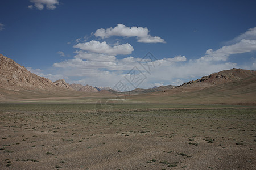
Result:
{"label": "barren brown mountain range spanning the whole horizon behind the plain", "polygon": [[[236,84],[236,86],[234,86],[234,84]],[[47,78],[31,73],[24,66],[0,54],[0,100],[2,101],[43,97],[101,96],[102,92],[103,94],[129,94],[131,98],[141,98],[146,101],[152,96],[158,99],[159,95],[171,95],[171,97],[176,94],[183,97],[192,95],[192,98],[196,98],[197,96],[193,95],[198,95],[202,92],[207,92],[208,94],[204,95],[208,95],[209,97],[209,94],[212,94],[213,91],[218,94],[220,92],[218,90],[221,90],[222,94],[229,91],[230,96],[237,94],[237,92],[234,91],[238,91],[240,94],[247,94],[247,96],[253,97],[251,103],[256,103],[254,97],[256,94],[254,90],[256,89],[255,87],[256,71],[231,69],[203,76],[200,79],[185,82],[180,86],[168,85],[148,89],[136,88],[129,92],[119,93],[110,87],[93,87],[88,84],[86,86],[74,83],[68,84],[64,79],[52,82]],[[161,99],[163,99],[163,97],[160,97],[159,101],[161,101]],[[248,102],[249,101],[250,100],[248,100]]]}

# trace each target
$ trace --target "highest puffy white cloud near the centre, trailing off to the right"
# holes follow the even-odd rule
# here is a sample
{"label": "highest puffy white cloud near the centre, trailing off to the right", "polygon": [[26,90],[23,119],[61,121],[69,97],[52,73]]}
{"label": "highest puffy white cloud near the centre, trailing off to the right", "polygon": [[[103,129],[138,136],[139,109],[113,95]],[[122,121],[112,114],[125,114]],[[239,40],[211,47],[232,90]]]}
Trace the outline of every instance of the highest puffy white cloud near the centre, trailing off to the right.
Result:
{"label": "highest puffy white cloud near the centre, trailing off to the right", "polygon": [[165,43],[164,39],[161,39],[160,37],[152,37],[146,27],[126,27],[123,24],[117,24],[117,26],[114,28],[110,27],[107,29],[97,29],[94,35],[96,37],[101,37],[102,39],[110,36],[137,37],[138,42]]}

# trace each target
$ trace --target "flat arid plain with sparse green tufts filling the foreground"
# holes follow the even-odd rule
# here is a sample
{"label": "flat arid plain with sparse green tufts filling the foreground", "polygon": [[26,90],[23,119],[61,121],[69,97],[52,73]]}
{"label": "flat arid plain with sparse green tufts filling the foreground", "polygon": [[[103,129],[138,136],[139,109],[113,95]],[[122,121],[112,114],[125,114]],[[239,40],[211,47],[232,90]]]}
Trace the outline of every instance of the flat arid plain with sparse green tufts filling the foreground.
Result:
{"label": "flat arid plain with sparse green tufts filling the foreground", "polygon": [[255,169],[256,109],[0,104],[1,169]]}

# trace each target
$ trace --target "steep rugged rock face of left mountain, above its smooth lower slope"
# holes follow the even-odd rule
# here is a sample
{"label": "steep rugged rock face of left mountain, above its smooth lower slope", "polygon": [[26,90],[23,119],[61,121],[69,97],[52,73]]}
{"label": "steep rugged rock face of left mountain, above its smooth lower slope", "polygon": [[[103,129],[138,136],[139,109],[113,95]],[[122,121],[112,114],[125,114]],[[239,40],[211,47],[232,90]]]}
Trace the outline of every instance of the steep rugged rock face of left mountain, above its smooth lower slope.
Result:
{"label": "steep rugged rock face of left mountain, above its smooth lower slope", "polygon": [[10,58],[0,54],[0,88],[19,91],[20,89],[51,89],[55,84],[28,71]]}

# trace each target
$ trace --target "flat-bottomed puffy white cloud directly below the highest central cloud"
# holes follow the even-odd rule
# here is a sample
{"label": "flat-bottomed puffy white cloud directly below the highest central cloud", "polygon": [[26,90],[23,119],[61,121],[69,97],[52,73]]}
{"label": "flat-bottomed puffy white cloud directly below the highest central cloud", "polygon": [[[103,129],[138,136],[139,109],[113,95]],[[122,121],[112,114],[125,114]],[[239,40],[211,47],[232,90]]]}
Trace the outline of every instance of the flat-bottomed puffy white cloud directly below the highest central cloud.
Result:
{"label": "flat-bottomed puffy white cloud directly below the highest central cloud", "polygon": [[100,54],[110,54],[110,55],[126,55],[133,52],[133,46],[130,44],[121,44],[116,46],[110,46],[106,41],[99,42],[92,40],[90,42],[79,43],[73,46],[74,48],[80,48],[81,50],[86,50],[88,52],[100,53]]}

